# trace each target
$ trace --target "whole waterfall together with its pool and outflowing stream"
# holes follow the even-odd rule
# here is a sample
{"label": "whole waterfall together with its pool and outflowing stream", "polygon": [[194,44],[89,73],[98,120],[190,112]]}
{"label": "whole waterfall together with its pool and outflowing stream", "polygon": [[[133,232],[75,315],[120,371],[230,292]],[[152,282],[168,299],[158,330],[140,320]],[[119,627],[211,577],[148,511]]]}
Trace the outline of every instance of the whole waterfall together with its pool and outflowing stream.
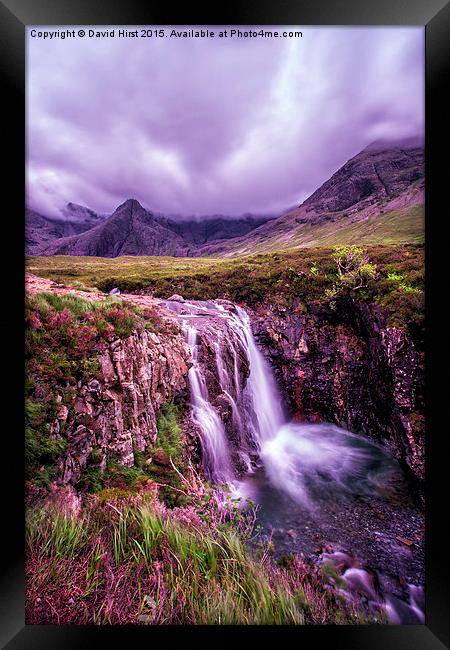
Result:
{"label": "whole waterfall together with its pool and outflowing stream", "polygon": [[[423,622],[421,587],[410,578],[402,596],[397,580],[399,563],[403,575],[414,573],[409,551],[392,542],[396,534],[404,535],[414,512],[402,506],[403,519],[396,527],[396,503],[404,502],[407,493],[397,462],[380,446],[333,424],[287,421],[273,372],[243,309],[226,301],[168,306],[182,315],[192,351],[192,418],[209,478],[259,504],[259,523],[272,531],[280,552],[301,549],[318,562],[336,560],[338,568],[347,558],[342,589],[348,597],[366,598],[374,611],[384,607],[393,623]],[[249,372],[243,372],[243,360]],[[208,383],[212,372],[214,389]],[[228,419],[221,411],[224,401]],[[244,461],[240,469],[236,458]],[[384,528],[380,521],[386,521]],[[411,527],[410,536],[418,526]],[[318,539],[334,550],[318,556]],[[336,548],[350,548],[353,555]],[[377,572],[367,572],[357,556],[375,566],[382,562],[390,572],[375,580]]]}

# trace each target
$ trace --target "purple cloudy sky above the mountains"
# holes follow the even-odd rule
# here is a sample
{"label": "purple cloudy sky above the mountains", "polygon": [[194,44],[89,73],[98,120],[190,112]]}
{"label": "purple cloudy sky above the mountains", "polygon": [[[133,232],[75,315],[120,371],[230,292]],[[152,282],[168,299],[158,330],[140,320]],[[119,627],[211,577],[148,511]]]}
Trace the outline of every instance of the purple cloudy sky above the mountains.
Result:
{"label": "purple cloudy sky above the mountains", "polygon": [[301,29],[28,36],[29,205],[110,213],[133,197],[166,214],[277,213],[371,141],[423,132],[423,28]]}

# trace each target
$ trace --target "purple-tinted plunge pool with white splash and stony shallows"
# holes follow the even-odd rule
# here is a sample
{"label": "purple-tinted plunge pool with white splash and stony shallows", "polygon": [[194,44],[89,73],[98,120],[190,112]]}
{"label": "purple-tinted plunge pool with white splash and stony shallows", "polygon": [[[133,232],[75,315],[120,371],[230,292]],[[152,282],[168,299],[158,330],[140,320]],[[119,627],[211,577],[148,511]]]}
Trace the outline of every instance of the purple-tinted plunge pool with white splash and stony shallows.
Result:
{"label": "purple-tinted plunge pool with white splash and stony shallows", "polygon": [[258,505],[275,556],[331,563],[347,597],[423,623],[424,520],[397,461],[332,424],[284,425],[260,456],[237,490]]}

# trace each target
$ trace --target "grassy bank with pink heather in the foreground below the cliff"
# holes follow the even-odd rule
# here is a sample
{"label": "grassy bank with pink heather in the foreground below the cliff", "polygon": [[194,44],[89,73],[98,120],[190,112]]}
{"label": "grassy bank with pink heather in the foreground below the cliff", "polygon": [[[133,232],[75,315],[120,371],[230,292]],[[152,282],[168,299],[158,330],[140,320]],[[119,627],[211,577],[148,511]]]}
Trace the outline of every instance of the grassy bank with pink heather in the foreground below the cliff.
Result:
{"label": "grassy bank with pink heather in the foreground below the cliff", "polygon": [[167,509],[155,486],[76,496],[53,487],[27,514],[27,623],[372,622],[333,577],[253,544],[254,505],[204,495]]}

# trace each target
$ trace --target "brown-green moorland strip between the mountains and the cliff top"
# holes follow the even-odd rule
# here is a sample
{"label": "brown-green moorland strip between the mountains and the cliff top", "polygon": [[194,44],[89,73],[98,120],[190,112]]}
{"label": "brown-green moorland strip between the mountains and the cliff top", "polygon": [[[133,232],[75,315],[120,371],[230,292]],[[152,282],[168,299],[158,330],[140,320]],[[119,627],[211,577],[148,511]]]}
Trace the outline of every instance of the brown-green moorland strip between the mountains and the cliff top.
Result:
{"label": "brown-green moorland strip between the mountains and the cliff top", "polygon": [[[260,253],[236,259],[185,257],[35,257],[28,270],[57,282],[74,281],[101,291],[122,291],[168,298],[226,298],[256,305],[267,301],[290,308],[327,306],[339,280],[334,248],[303,248]],[[342,248],[342,247],[341,247]],[[409,328],[422,337],[424,249],[421,244],[367,245],[364,252],[375,273],[353,298],[377,305],[388,324]]]}

